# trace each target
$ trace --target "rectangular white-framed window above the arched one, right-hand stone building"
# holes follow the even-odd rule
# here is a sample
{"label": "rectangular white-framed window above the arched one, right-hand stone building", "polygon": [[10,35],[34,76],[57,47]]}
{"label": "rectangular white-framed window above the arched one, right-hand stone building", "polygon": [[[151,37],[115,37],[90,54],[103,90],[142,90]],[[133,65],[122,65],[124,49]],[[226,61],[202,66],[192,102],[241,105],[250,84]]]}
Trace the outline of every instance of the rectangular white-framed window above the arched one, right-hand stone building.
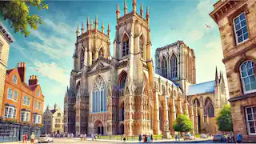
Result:
{"label": "rectangular white-framed window above the arched one, right-hand stone building", "polygon": [[234,18],[234,33],[237,44],[245,42],[249,38],[246,13],[243,12]]}

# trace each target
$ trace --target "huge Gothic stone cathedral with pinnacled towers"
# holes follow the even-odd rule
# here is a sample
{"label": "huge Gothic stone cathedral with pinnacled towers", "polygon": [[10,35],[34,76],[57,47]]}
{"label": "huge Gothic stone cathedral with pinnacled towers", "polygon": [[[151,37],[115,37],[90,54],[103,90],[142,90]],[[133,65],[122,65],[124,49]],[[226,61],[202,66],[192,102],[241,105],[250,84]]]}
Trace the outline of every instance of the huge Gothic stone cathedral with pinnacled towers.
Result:
{"label": "huge Gothic stone cathedral with pinnacled towers", "polygon": [[[222,73],[215,79],[196,83],[194,50],[182,41],[151,55],[150,11],[144,16],[141,3],[120,15],[110,55],[110,24],[101,30],[98,17],[87,18],[77,28],[74,67],[64,98],[64,131],[73,134],[174,134],[173,122],[186,114],[193,122],[193,134],[218,133],[215,118],[226,100]],[[155,64],[155,66],[154,66]]]}

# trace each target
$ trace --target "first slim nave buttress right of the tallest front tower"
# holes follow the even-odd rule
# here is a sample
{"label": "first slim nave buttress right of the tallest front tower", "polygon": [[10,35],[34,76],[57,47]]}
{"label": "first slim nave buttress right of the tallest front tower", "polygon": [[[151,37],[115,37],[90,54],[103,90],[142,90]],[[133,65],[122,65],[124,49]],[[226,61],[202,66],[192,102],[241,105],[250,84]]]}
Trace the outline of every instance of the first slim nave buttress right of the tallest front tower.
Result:
{"label": "first slim nave buttress right of the tallest front tower", "polygon": [[160,134],[158,90],[154,90],[154,134]]}

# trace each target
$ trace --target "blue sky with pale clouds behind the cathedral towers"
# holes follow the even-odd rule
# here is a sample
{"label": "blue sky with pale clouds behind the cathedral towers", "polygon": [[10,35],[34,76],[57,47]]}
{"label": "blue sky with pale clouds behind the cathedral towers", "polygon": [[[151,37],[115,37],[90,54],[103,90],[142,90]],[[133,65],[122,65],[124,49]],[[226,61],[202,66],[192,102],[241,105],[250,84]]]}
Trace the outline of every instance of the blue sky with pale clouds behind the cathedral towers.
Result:
{"label": "blue sky with pale clouds behind the cathedral towers", "polygon": [[[72,55],[76,42],[76,27],[86,18],[98,15],[99,27],[102,21],[111,25],[111,42],[116,26],[116,5],[119,3],[123,15],[124,0],[116,1],[46,1],[49,10],[30,9],[38,14],[44,23],[38,30],[31,31],[29,38],[14,34],[7,22],[6,27],[15,42],[10,46],[8,68],[26,62],[26,82],[32,74],[38,75],[45,95],[45,106],[58,103],[63,109],[64,94],[69,84],[70,70],[73,68]],[[150,6],[150,29],[152,50],[160,46],[183,40],[194,49],[196,56],[197,82],[214,80],[215,66],[225,68],[222,63],[222,47],[217,24],[210,18],[210,11],[217,0],[137,0],[137,10],[143,2],[143,10]],[[132,0],[127,0],[128,12],[132,10]],[[146,15],[146,14],[144,14]],[[206,24],[211,28],[206,28]],[[111,54],[113,45],[111,44]],[[36,71],[38,69],[38,71]]]}

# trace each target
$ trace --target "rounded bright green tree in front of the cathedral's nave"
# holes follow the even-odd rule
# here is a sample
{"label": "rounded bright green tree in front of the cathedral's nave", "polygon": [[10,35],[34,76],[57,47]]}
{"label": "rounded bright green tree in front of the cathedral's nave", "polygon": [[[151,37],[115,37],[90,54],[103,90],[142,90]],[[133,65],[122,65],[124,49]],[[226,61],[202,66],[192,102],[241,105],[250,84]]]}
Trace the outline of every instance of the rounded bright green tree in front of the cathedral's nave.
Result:
{"label": "rounded bright green tree in front of the cathedral's nave", "polygon": [[187,115],[180,114],[174,121],[173,128],[178,132],[189,132],[193,130],[193,123],[190,121]]}

